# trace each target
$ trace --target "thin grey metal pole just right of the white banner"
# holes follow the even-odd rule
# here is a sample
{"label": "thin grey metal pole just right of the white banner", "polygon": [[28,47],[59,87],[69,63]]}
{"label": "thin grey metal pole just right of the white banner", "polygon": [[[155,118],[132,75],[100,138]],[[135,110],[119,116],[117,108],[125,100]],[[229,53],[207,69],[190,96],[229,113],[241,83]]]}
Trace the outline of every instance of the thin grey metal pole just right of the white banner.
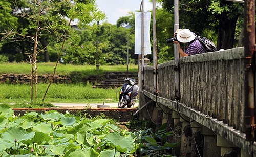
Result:
{"label": "thin grey metal pole just right of the white banner", "polygon": [[157,33],[156,33],[156,0],[153,0],[153,75],[154,75],[154,93],[158,95],[157,90]]}

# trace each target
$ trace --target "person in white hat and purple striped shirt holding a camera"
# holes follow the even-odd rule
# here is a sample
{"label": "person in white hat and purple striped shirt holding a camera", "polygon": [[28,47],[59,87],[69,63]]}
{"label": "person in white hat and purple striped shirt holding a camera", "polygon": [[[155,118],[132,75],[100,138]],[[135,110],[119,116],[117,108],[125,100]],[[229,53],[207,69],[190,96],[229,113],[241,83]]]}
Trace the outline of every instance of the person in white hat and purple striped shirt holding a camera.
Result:
{"label": "person in white hat and purple striped shirt holding a camera", "polygon": [[[177,40],[172,40],[175,44],[178,44],[178,50],[181,57],[204,53],[205,49],[202,44],[195,40],[195,33],[191,32],[189,29],[178,29],[175,33]],[[187,43],[185,52],[182,50],[180,43]]]}

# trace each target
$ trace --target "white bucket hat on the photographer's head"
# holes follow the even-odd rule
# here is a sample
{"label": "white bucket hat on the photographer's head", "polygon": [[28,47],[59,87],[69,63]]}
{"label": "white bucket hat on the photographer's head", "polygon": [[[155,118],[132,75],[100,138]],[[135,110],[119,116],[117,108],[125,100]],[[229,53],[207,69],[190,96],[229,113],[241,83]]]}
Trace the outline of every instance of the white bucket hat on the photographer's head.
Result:
{"label": "white bucket hat on the photographer's head", "polygon": [[195,33],[191,32],[189,29],[183,29],[177,33],[177,40],[182,43],[190,42],[195,38]]}

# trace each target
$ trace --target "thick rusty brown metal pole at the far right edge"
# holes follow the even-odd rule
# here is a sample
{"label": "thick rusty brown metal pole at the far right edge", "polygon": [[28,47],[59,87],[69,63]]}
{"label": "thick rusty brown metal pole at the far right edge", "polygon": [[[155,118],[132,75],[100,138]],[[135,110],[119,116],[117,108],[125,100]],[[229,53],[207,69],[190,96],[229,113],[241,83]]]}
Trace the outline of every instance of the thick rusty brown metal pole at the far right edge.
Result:
{"label": "thick rusty brown metal pole at the far right edge", "polygon": [[255,141],[255,0],[244,2],[244,105],[247,141]]}

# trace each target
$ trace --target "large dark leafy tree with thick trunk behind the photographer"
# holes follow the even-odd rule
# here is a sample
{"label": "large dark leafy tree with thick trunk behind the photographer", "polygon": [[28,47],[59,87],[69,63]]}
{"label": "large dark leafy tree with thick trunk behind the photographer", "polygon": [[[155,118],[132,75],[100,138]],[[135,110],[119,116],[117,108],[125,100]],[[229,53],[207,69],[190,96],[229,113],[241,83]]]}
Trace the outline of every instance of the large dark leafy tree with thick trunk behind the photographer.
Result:
{"label": "large dark leafy tree with thick trunk behind the photographer", "polygon": [[[173,13],[174,1],[161,1],[163,8]],[[211,30],[218,34],[218,50],[233,47],[234,31],[238,17],[243,14],[243,4],[224,0],[181,0],[179,9],[181,28],[189,28],[206,37],[209,34],[205,30]]]}

